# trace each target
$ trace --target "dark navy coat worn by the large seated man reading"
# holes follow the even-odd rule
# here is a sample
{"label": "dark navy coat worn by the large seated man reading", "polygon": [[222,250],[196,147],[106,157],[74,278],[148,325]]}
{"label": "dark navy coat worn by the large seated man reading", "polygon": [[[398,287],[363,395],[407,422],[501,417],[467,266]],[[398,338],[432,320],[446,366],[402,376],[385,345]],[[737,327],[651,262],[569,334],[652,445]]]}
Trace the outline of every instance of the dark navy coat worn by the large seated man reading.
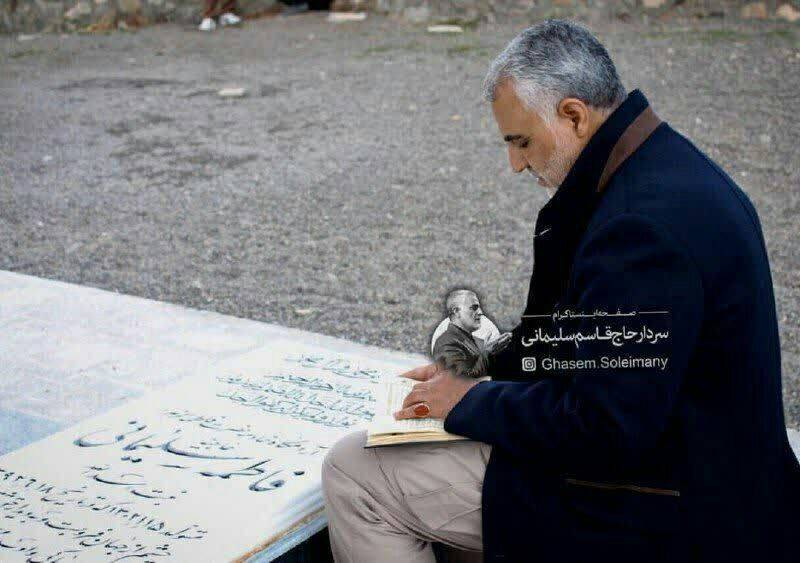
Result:
{"label": "dark navy coat worn by the large seated man reading", "polygon": [[540,211],[526,314],[667,311],[669,364],[528,373],[521,356],[536,348],[515,329],[495,380],[445,420],[493,446],[487,561],[800,561],[788,537],[800,530],[800,468],[752,203],[666,123],[597,189],[647,108],[632,92]]}

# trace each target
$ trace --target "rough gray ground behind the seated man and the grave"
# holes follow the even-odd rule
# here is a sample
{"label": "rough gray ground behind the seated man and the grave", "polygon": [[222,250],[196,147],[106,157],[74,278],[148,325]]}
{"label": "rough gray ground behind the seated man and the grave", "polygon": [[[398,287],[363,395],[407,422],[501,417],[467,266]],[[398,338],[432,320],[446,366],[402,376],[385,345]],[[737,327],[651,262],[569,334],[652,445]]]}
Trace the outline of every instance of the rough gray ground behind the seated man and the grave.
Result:
{"label": "rough gray ground behind the seated man and the grave", "polygon": [[[435,36],[312,13],[2,37],[0,268],[412,352],[454,285],[510,326],[545,196],[510,172],[480,83],[525,25]],[[755,203],[797,427],[800,28],[594,29]]]}

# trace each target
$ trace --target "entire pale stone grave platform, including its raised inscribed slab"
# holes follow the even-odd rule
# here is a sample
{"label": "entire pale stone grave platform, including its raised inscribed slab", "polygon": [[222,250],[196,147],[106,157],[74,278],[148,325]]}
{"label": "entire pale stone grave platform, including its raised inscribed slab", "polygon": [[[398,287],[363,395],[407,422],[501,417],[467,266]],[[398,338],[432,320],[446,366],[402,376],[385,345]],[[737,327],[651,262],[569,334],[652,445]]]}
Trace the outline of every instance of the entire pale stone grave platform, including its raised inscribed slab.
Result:
{"label": "entire pale stone grave platform, including its raised inscribed slab", "polygon": [[270,561],[325,525],[375,380],[424,361],[0,271],[0,444],[66,427],[0,456],[0,562]]}

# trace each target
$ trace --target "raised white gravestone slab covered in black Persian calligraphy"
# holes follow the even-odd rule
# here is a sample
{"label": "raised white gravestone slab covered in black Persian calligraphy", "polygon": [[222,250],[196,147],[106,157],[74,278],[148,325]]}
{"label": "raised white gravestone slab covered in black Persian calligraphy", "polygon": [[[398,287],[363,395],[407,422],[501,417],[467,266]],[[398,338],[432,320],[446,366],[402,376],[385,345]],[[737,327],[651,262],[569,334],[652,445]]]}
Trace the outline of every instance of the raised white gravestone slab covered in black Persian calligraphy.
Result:
{"label": "raised white gravestone slab covered in black Persian calligraphy", "polygon": [[0,458],[0,561],[237,561],[323,508],[397,363],[274,341]]}

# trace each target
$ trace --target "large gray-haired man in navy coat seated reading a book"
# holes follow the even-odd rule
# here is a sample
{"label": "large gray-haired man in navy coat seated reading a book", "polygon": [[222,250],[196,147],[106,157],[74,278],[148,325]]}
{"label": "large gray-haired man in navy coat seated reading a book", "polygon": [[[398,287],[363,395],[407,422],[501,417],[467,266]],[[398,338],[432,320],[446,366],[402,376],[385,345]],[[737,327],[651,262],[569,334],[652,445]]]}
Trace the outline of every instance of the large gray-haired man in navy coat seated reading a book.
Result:
{"label": "large gray-haired man in navy coat seated reading a book", "polygon": [[[512,169],[553,192],[523,322],[491,381],[404,374],[397,418],[473,442],[332,448],[336,560],[432,562],[438,541],[487,561],[796,561],[800,467],[746,194],[575,23],[514,38],[484,94]],[[542,332],[562,317],[571,332]]]}

